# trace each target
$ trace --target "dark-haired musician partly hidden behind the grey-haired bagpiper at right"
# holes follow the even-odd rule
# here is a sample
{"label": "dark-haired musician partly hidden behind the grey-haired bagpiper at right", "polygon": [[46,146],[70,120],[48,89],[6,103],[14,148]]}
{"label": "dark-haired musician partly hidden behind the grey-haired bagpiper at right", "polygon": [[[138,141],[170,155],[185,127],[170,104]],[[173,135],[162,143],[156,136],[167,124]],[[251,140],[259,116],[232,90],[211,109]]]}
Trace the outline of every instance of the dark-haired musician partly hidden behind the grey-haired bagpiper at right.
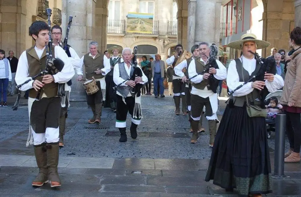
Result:
{"label": "dark-haired musician partly hidden behind the grey-haired bagpiper at right", "polygon": [[[188,115],[189,115],[189,122],[190,122],[190,132],[192,132],[192,128],[191,128],[191,82],[189,81],[188,83],[186,83],[188,77],[188,67],[190,62],[193,59],[197,59],[200,56],[200,49],[199,49],[199,45],[195,44],[191,47],[191,53],[192,56],[188,59],[185,59],[184,61],[182,61],[181,63],[179,63],[175,68],[175,74],[182,77],[182,83],[185,83],[185,97],[186,97],[186,105],[188,108]],[[183,72],[183,69],[185,68],[185,72]],[[202,120],[203,120],[203,113],[201,113],[201,118],[199,121],[199,127],[198,127],[198,132],[205,132],[205,129],[202,126]]]}

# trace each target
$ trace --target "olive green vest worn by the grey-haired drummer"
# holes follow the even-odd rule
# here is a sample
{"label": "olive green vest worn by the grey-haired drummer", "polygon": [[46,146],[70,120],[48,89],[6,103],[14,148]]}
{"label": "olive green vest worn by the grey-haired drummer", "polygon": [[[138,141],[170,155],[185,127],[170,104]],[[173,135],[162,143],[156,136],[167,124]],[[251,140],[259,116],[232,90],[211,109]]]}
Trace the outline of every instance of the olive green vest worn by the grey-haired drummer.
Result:
{"label": "olive green vest worn by the grey-haired drummer", "polygon": [[84,65],[86,70],[86,79],[90,80],[92,77],[95,79],[101,79],[104,77],[102,74],[96,74],[94,71],[104,68],[104,56],[101,56],[99,53],[96,54],[93,59],[92,56],[89,56],[90,53],[85,54],[84,56]]}

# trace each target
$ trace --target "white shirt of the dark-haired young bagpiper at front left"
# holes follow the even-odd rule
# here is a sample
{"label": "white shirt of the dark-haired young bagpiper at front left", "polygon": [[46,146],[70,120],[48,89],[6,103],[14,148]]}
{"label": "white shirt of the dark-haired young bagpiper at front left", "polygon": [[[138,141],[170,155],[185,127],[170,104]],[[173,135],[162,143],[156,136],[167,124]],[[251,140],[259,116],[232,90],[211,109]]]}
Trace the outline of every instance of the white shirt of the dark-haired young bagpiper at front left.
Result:
{"label": "white shirt of the dark-haired young bagpiper at front left", "polygon": [[[37,56],[39,58],[41,58],[42,54],[45,50],[45,47],[41,50],[35,46],[34,49],[37,53]],[[57,74],[52,75],[54,78],[54,82],[55,83],[67,83],[70,79],[72,79],[72,77],[75,73],[74,69],[71,65],[71,62],[70,62],[67,54],[65,53],[65,51],[62,49],[62,47],[58,47],[58,46],[54,47],[54,56],[57,59],[61,59],[65,63],[64,68],[62,69],[61,72],[58,72]],[[21,56],[19,58],[15,81],[16,81],[16,84],[19,85],[28,79],[32,79],[32,78],[29,77],[29,65],[28,65],[28,61],[27,61],[26,51],[23,51],[23,53],[21,54]],[[33,81],[34,80],[29,81],[29,83],[24,84],[19,89],[22,91],[26,91],[28,89],[33,88]]]}

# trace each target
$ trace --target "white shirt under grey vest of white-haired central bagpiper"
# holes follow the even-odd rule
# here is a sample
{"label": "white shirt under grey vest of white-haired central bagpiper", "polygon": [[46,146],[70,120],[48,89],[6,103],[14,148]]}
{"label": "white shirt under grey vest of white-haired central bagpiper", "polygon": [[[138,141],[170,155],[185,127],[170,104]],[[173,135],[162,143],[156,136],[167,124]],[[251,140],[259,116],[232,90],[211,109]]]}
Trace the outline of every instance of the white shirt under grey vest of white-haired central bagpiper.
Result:
{"label": "white shirt under grey vest of white-haired central bagpiper", "polygon": [[[141,67],[139,65],[137,65],[138,68],[140,68],[140,70],[142,71]],[[124,63],[124,68],[126,69],[126,72],[127,74],[130,76],[131,74],[131,69],[132,69],[132,65],[130,65],[130,67],[127,66],[126,63]],[[120,86],[128,86],[126,85],[126,82],[123,82],[124,79],[120,77],[120,73],[119,73],[119,64],[116,64],[114,66],[114,71],[113,71],[113,81],[116,85],[119,85],[120,83]],[[148,82],[148,79],[147,77],[145,76],[145,74],[143,73],[142,71],[142,82],[140,82],[141,84],[144,84]],[[118,91],[116,92],[119,96],[122,96]],[[129,94],[127,96],[132,96],[131,93],[129,92]]]}

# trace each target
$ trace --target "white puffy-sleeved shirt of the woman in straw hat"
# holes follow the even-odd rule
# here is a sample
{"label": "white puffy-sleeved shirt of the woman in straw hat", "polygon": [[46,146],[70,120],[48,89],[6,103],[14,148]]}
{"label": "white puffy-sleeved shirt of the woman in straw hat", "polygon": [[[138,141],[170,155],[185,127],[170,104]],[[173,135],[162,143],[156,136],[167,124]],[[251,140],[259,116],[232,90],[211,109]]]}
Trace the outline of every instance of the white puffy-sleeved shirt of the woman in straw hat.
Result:
{"label": "white puffy-sleeved shirt of the woman in straw hat", "polygon": [[[239,58],[239,59],[240,59],[240,61],[243,62],[242,65],[243,65],[244,69],[246,71],[248,71],[249,75],[251,75],[253,73],[253,71],[255,71],[255,68],[256,68],[256,59],[254,59],[254,58],[247,59],[244,56],[241,56],[241,58]],[[232,60],[228,66],[227,86],[228,86],[229,90],[232,91],[243,83],[244,82],[239,81],[239,75],[238,75],[237,69],[236,69],[236,62],[235,62],[235,60]],[[283,87],[283,85],[284,85],[283,78],[278,74],[274,75],[274,81],[272,81],[272,82],[265,80],[265,86],[267,87],[269,92],[275,92],[276,90]],[[233,96],[247,95],[247,94],[251,93],[253,91],[253,89],[254,88],[252,88],[252,82],[248,82],[247,84],[242,86],[240,89],[236,90],[233,93]]]}

